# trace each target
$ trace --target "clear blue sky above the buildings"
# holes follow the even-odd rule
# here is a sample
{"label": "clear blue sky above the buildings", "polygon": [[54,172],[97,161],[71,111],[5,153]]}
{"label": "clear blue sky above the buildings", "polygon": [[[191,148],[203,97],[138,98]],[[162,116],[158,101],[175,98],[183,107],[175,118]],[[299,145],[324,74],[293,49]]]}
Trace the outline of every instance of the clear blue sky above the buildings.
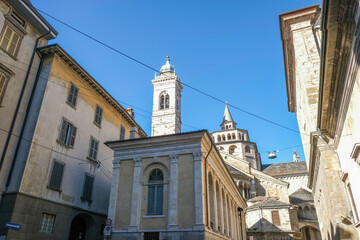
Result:
{"label": "clear blue sky above the buildings", "polygon": [[[320,4],[315,0],[137,1],[32,0],[33,5],[106,44],[160,69],[169,54],[181,81],[263,118],[298,130],[289,113],[279,14]],[[58,43],[150,134],[149,70],[44,16],[59,32]],[[138,107],[138,108],[135,108]],[[224,104],[184,86],[183,131],[220,129]],[[140,109],[139,109],[140,108]],[[144,111],[145,110],[145,111]],[[230,108],[247,129],[263,163],[305,160],[299,134]],[[195,128],[189,127],[193,126]],[[269,160],[266,150],[283,149]]]}

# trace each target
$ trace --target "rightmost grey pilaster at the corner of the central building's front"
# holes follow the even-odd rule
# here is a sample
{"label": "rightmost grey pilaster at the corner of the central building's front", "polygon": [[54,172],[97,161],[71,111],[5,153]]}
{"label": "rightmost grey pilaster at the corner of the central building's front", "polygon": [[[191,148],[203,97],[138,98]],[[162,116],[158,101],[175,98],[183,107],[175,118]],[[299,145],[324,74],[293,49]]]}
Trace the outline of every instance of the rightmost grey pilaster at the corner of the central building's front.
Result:
{"label": "rightmost grey pilaster at the corner of the central building's front", "polygon": [[[195,187],[195,230],[204,230],[203,191],[202,191],[202,152],[194,155],[194,187]],[[206,173],[205,173],[206,174]]]}

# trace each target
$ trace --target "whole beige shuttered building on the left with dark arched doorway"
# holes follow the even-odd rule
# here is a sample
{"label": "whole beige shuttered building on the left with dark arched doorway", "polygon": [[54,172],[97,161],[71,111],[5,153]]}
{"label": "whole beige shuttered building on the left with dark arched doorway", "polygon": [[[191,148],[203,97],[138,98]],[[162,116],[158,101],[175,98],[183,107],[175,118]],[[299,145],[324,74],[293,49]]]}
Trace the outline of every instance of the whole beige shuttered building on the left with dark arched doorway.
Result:
{"label": "whole beige shuttered building on the left with dark arched doorway", "polygon": [[[6,239],[102,239],[113,152],[103,142],[145,132],[58,45],[37,49],[24,135],[0,205]],[[1,110],[0,110],[1,111]],[[21,229],[4,228],[6,222]]]}

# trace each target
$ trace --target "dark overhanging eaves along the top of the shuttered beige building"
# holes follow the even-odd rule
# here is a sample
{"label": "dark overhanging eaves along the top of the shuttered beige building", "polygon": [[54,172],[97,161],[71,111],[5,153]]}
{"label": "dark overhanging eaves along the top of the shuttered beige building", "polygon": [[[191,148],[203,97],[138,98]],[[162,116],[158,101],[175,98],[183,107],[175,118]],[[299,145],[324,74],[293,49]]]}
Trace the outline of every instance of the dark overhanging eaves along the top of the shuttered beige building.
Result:
{"label": "dark overhanging eaves along the top of the shuttered beige building", "polygon": [[72,68],[82,79],[84,79],[101,97],[104,98],[121,116],[129,123],[130,126],[136,126],[140,137],[146,137],[146,132],[137,124],[129,113],[118,103],[79,63],[75,61],[64,49],[58,44],[48,45],[38,48],[42,56],[57,54],[70,68]]}

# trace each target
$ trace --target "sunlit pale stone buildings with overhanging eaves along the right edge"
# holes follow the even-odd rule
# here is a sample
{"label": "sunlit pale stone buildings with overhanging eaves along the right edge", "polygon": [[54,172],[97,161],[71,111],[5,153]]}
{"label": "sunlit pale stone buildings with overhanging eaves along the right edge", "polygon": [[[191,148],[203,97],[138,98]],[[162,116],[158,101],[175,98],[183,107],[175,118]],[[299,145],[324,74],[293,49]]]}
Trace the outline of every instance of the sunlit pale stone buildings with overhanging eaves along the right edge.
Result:
{"label": "sunlit pale stone buildings with overhanging eaves along the right edge", "polygon": [[358,1],[280,15],[289,111],[295,112],[324,239],[358,239]]}

